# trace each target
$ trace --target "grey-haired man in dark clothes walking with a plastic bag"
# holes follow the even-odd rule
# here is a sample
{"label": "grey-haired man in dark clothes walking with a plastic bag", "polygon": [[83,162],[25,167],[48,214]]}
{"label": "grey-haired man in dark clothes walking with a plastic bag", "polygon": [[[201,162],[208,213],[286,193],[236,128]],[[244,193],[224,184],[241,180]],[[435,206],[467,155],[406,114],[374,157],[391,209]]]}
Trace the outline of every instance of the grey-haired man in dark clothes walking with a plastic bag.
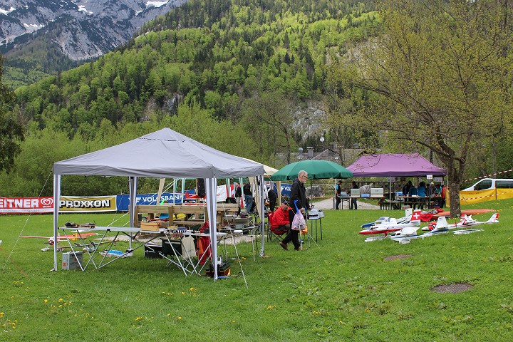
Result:
{"label": "grey-haired man in dark clothes walking with a plastic bag", "polygon": [[[292,227],[292,221],[294,220],[294,215],[296,212],[301,212],[301,214],[304,213],[308,207],[306,207],[306,189],[304,187],[304,183],[308,180],[308,172],[305,170],[301,170],[298,173],[298,177],[292,182],[291,187],[291,196],[289,200],[289,205],[291,207],[289,211],[289,217],[290,217],[290,224]],[[297,207],[297,210],[296,210]],[[279,242],[279,245],[283,249],[289,249],[287,247],[287,244],[289,242],[292,242],[294,244],[294,249],[296,251],[301,251],[303,247],[301,247],[301,242],[299,242],[299,230],[294,230],[292,228],[289,228],[287,231],[285,239]]]}

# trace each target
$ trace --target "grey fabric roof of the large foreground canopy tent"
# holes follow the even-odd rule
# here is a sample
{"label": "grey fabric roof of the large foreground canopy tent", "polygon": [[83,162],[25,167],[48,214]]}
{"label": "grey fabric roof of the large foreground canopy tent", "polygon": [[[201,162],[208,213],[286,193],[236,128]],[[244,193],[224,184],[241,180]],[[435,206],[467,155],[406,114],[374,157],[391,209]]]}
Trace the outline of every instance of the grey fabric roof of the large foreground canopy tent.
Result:
{"label": "grey fabric roof of the large foreground canopy tent", "polygon": [[170,128],[53,164],[56,175],[170,178],[264,175],[263,165],[229,155]]}

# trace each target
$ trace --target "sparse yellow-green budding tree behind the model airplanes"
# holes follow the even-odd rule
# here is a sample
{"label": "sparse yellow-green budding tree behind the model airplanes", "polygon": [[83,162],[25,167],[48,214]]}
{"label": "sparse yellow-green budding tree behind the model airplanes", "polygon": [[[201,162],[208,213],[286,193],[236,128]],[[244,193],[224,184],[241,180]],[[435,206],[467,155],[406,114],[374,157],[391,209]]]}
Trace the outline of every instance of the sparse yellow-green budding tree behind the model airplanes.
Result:
{"label": "sparse yellow-green budding tree behind the model airplanes", "polygon": [[[432,151],[447,168],[451,216],[482,137],[512,118],[512,6],[492,0],[385,0],[383,34],[354,48],[347,86],[368,90],[362,113],[404,149]],[[339,69],[340,73],[343,73]]]}

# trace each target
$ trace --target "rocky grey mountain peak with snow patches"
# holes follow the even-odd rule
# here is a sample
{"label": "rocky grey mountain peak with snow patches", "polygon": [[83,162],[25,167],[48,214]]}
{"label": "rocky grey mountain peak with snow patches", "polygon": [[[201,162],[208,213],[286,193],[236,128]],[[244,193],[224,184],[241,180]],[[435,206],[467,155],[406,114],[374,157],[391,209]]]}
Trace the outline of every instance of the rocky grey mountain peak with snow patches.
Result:
{"label": "rocky grey mountain peak with snow patches", "polygon": [[6,0],[0,5],[0,52],[51,41],[73,61],[122,45],[147,21],[186,0]]}

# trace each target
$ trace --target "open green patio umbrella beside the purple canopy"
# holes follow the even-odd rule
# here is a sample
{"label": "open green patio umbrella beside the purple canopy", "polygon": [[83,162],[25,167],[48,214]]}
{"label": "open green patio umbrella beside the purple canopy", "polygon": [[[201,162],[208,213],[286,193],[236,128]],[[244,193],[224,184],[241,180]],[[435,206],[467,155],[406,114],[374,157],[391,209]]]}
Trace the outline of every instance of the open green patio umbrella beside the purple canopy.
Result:
{"label": "open green patio umbrella beside the purple canopy", "polygon": [[351,178],[353,172],[336,162],[329,160],[301,160],[281,167],[274,172],[271,180],[294,180],[299,171],[305,170],[309,174],[309,180],[322,180],[326,178]]}

